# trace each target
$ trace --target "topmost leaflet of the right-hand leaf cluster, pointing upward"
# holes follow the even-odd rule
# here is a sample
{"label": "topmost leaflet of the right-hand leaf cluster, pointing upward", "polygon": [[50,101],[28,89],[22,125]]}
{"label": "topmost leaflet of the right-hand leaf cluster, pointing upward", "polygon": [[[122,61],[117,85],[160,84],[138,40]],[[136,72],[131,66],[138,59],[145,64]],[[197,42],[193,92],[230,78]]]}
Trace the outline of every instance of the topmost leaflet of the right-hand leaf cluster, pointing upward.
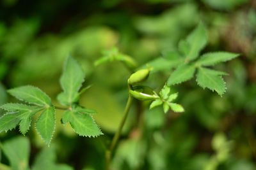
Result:
{"label": "topmost leaflet of the right-hand leaf cluster, pointing upward", "polygon": [[189,52],[186,54],[187,60],[194,60],[198,57],[200,51],[204,49],[207,44],[207,32],[202,23],[198,24],[191,34],[189,34],[186,41],[189,46]]}

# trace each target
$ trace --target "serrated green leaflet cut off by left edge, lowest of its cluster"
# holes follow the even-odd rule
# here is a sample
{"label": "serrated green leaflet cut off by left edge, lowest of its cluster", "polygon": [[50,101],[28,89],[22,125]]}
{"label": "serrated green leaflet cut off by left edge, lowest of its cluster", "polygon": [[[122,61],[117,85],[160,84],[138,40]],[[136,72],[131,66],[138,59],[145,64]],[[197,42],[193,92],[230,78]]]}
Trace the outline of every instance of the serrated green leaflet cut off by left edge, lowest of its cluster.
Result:
{"label": "serrated green leaflet cut off by left edge, lowest of its cluster", "polygon": [[20,113],[13,113],[13,114],[5,114],[0,118],[0,132],[8,131],[15,128],[19,122],[19,115]]}

